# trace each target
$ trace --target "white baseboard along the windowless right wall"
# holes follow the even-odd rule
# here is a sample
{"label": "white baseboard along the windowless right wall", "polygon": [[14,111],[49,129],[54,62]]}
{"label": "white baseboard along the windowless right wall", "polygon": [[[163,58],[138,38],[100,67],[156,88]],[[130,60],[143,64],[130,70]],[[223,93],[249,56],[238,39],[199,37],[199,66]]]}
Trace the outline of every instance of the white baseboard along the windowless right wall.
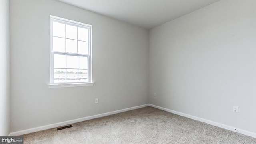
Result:
{"label": "white baseboard along the windowless right wall", "polygon": [[[221,124],[221,123],[218,123],[218,122],[213,122],[211,120],[206,120],[204,118],[199,118],[199,117],[196,117],[196,116],[191,116],[189,114],[184,114],[182,112],[177,112],[175,110],[170,110],[170,109],[167,109],[167,108],[163,108],[163,107],[160,107],[160,106],[156,106],[156,105],[153,105],[153,104],[148,104],[149,106],[153,107],[153,108],[158,108],[160,110],[164,110],[166,112],[170,112],[170,113],[173,113],[173,114],[177,114],[177,115],[180,115],[180,116],[184,116],[184,117],[187,117],[187,118],[191,118],[193,120],[198,120],[200,122],[204,122],[204,123],[207,123],[207,124],[211,124],[213,126],[218,126],[220,128],[224,128],[226,130],[231,130],[233,132],[238,132],[240,134],[244,134],[244,135],[247,135],[247,136],[251,136],[251,137],[254,137],[256,138],[256,133],[253,133],[253,132],[249,132],[249,131],[246,131],[246,130],[242,130],[242,129],[238,129],[238,128],[235,128],[235,127],[232,127],[232,126],[228,126],[228,125],[225,125],[225,124]],[[236,130],[235,130],[236,129]]]}

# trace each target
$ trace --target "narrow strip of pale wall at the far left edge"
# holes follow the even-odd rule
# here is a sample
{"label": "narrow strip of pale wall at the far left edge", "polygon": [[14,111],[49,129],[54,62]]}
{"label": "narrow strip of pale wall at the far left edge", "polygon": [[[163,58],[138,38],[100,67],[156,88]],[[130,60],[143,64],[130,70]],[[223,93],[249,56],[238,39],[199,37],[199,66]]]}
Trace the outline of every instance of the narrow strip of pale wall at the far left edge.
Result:
{"label": "narrow strip of pale wall at the far left edge", "polygon": [[0,0],[0,136],[10,132],[9,0]]}

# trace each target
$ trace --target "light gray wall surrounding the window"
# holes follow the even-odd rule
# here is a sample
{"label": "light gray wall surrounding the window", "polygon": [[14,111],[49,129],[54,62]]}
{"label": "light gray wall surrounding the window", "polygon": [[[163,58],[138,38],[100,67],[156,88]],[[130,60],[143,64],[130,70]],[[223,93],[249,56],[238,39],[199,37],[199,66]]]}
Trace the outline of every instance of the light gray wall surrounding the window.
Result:
{"label": "light gray wall surrounding the window", "polygon": [[[93,26],[94,86],[48,88],[50,15]],[[148,104],[148,35],[55,0],[10,0],[11,132]]]}

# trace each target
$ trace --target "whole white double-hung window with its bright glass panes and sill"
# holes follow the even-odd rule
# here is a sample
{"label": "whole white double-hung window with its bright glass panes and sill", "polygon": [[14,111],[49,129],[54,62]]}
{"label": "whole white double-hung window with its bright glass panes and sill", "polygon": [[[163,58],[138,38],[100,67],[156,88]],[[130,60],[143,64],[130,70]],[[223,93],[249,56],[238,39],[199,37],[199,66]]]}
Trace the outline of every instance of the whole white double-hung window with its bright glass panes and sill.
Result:
{"label": "whole white double-hung window with its bright glass panes and sill", "polygon": [[91,25],[50,16],[49,88],[93,85],[91,37]]}

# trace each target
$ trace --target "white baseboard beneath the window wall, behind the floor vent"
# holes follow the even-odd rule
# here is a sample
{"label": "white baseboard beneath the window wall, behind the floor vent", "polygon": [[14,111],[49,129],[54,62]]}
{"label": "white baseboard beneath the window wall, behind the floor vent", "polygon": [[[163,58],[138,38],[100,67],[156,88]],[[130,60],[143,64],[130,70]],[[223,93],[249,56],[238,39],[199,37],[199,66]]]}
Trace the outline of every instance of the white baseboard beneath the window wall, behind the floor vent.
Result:
{"label": "white baseboard beneath the window wall, behind the floor vent", "polygon": [[32,133],[32,132],[38,132],[38,131],[41,131],[41,130],[47,130],[47,129],[50,129],[50,128],[56,128],[56,127],[60,127],[60,126],[65,126],[65,125],[68,125],[68,124],[74,124],[76,122],[82,122],[82,121],[85,121],[85,120],[91,120],[91,119],[94,119],[94,118],[100,118],[100,117],[103,117],[103,116],[109,116],[109,115],[117,114],[117,113],[120,113],[120,112],[126,112],[126,111],[129,111],[129,110],[135,110],[135,109],[138,109],[138,108],[144,108],[146,106],[149,106],[149,104],[144,104],[144,105],[141,105],[141,106],[134,106],[132,108],[125,108],[125,109],[116,110],[116,111],[113,111],[113,112],[106,112],[106,113],[103,113],[103,114],[96,114],[94,116],[86,116],[84,118],[68,120],[68,121],[65,121],[65,122],[58,122],[58,123],[49,124],[49,125],[46,125],[46,126],[39,126],[39,127],[36,127],[36,128],[30,128],[30,129],[27,129],[27,130],[20,130],[20,131],[17,131],[17,132],[11,132],[9,134],[9,136],[20,136],[20,135],[23,135],[23,134],[29,134],[29,133]]}

